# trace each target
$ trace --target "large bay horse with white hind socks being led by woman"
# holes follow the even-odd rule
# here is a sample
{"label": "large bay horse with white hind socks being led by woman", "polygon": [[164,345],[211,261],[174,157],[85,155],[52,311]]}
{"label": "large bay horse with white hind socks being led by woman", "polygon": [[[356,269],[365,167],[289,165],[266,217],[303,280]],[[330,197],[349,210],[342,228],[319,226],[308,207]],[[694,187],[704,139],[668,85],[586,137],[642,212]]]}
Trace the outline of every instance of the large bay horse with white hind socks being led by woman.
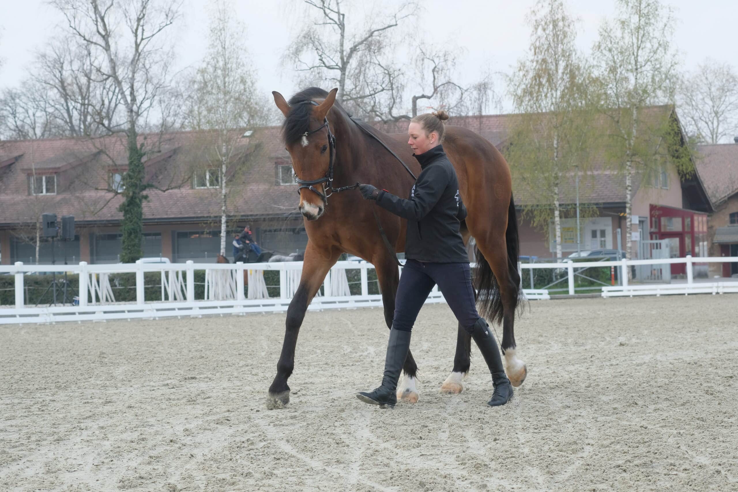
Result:
{"label": "large bay horse with white hind socks being led by woman", "polygon": [[[272,92],[285,117],[282,137],[301,185],[299,209],[304,216],[308,245],[300,284],[287,310],[277,375],[269,387],[270,409],[289,403],[287,380],[294,369],[300,325],[308,304],[342,253],[355,254],[374,265],[382,291],[384,320],[387,328],[392,326],[399,271],[390,246],[396,252],[404,251],[406,222],[349,190],[357,182],[368,183],[407,197],[415,181],[411,173],[417,176],[420,164],[412,157],[407,134],[384,134],[352,119],[336,103],[336,93],[337,89],[326,92],[312,87],[294,94],[287,102],[282,94]],[[516,356],[513,330],[520,274],[510,168],[497,148],[473,131],[448,125],[444,133],[444,150],[458,174],[467,209],[466,220],[461,224],[464,243],[473,237],[477,245],[475,288],[480,315],[503,323],[500,345],[506,373],[517,387],[523,383],[527,369]],[[469,373],[470,350],[471,336],[459,325],[453,370],[441,392],[462,391],[462,381]],[[415,403],[418,367],[410,352],[403,371],[397,397]]]}

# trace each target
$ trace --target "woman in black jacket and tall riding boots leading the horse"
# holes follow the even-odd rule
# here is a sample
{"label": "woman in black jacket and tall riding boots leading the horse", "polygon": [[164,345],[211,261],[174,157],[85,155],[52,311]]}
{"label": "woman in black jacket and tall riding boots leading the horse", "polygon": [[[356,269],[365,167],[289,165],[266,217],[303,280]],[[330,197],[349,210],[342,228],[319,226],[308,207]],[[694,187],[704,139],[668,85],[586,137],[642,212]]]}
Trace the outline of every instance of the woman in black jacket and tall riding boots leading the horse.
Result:
{"label": "woman in black jacket and tall riding boots leading the horse", "polygon": [[487,322],[477,313],[469,257],[459,232],[466,208],[459,194],[456,171],[441,145],[444,121],[448,118],[446,111],[438,111],[410,121],[407,143],[421,165],[410,198],[405,200],[371,184],[359,184],[364,198],[376,200],[379,207],[407,219],[407,262],[397,288],[382,386],[356,395],[381,408],[393,408],[397,403],[397,380],[410,350],[410,330],[436,284],[456,318],[472,335],[492,373],[494,392],[487,404],[504,405],[513,395],[497,342]]}

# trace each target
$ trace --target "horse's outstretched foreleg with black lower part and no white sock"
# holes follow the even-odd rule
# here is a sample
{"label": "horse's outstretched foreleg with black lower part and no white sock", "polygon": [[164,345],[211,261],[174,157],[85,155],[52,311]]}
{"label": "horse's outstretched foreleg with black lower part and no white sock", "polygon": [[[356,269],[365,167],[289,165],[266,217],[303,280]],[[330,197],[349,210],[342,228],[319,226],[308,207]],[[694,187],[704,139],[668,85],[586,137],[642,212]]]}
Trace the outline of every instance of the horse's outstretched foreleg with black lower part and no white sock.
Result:
{"label": "horse's outstretched foreleg with black lower part and no white sock", "polygon": [[311,243],[308,243],[305,252],[305,263],[303,263],[303,273],[300,276],[300,285],[289,303],[289,308],[287,308],[286,329],[282,352],[277,362],[277,375],[272,381],[272,386],[269,387],[269,398],[266,400],[266,407],[269,409],[281,408],[289,403],[287,379],[292,375],[294,369],[294,347],[297,344],[300,326],[303,324],[310,301],[317,293],[320,285],[323,284],[325,274],[328,274],[328,270],[336,263],[339,254],[340,252],[337,252],[329,257],[323,257],[315,251]]}

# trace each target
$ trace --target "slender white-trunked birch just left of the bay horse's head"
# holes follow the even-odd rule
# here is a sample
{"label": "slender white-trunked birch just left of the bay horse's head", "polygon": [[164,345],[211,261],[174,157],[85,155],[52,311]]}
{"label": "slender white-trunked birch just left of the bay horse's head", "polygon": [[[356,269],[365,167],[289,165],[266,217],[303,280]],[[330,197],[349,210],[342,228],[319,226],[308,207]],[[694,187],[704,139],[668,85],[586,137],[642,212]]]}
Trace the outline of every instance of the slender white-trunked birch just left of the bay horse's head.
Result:
{"label": "slender white-trunked birch just left of the bay horse's head", "polygon": [[[266,100],[258,95],[248,58],[246,28],[237,20],[232,1],[213,0],[207,54],[192,80],[186,125],[204,131],[203,162],[195,179],[207,181],[206,186],[218,192],[223,255],[230,184],[243,176],[257,150],[255,145],[249,148],[249,128],[263,125],[267,119]],[[210,176],[215,169],[217,178]],[[238,188],[233,191],[238,193]]]}

